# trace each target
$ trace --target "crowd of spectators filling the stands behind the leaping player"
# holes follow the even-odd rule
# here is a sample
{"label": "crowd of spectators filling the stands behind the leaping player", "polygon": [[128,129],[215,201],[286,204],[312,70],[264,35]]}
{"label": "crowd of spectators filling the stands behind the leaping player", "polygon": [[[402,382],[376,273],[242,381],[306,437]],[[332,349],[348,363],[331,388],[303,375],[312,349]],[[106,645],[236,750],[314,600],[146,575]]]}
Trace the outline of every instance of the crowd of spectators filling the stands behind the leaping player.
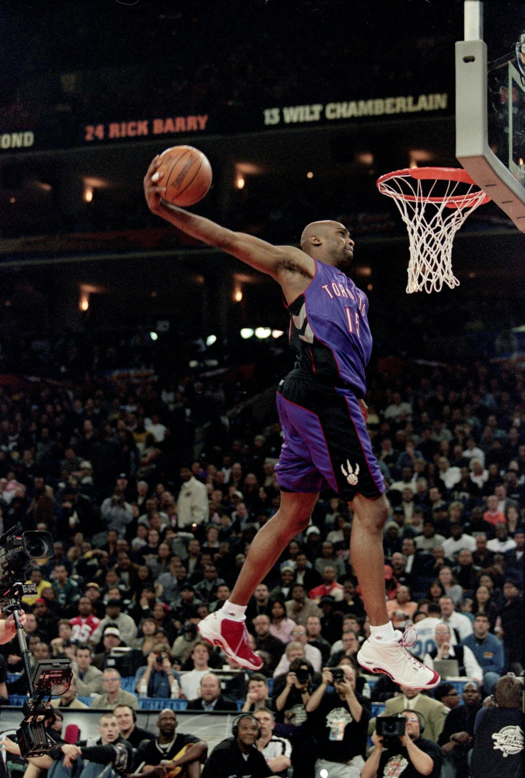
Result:
{"label": "crowd of spectators filling the stands behind the leaping player", "polygon": [[[435,765],[447,759],[466,775],[471,741],[454,740],[453,685],[432,696],[359,671],[369,625],[348,552],[352,509],[333,492],[321,494],[310,526],[248,605],[262,671],[243,671],[199,639],[198,622],[222,607],[250,541],[278,508],[280,428],[270,421],[247,437],[236,429],[239,437],[180,461],[169,396],[117,387],[0,389],[3,531],[19,523],[55,538],[54,556],[34,560],[37,594],[24,608],[32,661],[72,661],[58,710],[132,711],[162,699],[168,708],[253,713],[261,730],[253,742],[273,773],[292,765],[310,776],[315,765],[345,762],[359,776],[375,731],[371,705],[384,703],[390,715],[422,714],[417,727],[406,714],[407,737],[418,729],[415,741],[437,744],[427,749]],[[464,678],[468,717],[506,672],[523,669],[523,381],[500,366],[376,371],[367,401],[390,506],[390,619],[412,630],[411,650],[425,664]],[[2,647],[0,664],[0,694],[25,694],[16,641]],[[236,737],[249,729],[244,721]]]}

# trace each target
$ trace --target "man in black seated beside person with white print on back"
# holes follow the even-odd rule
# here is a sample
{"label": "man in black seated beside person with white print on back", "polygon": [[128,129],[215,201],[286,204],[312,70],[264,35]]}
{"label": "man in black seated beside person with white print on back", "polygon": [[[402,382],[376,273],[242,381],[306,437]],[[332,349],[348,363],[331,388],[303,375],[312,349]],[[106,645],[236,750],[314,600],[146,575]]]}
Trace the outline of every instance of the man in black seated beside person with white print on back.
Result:
{"label": "man in black seated beside person with white print on back", "polygon": [[447,713],[438,745],[446,759],[452,762],[457,778],[468,778],[467,755],[474,738],[474,721],[481,710],[481,692],[477,684],[469,682],[464,685],[462,694],[464,704]]}

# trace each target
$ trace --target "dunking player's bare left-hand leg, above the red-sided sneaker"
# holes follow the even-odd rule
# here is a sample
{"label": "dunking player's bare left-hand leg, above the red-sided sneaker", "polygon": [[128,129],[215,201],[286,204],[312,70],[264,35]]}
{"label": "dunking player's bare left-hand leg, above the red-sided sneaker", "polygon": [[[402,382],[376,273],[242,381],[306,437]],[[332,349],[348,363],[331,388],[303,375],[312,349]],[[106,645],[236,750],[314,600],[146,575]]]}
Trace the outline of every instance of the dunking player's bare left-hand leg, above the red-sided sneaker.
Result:
{"label": "dunking player's bare left-hand leg, above the red-sided sneaker", "polygon": [[230,594],[233,605],[247,605],[257,584],[268,575],[286,546],[310,523],[318,493],[281,492],[281,505],[275,516],[257,532],[246,562]]}

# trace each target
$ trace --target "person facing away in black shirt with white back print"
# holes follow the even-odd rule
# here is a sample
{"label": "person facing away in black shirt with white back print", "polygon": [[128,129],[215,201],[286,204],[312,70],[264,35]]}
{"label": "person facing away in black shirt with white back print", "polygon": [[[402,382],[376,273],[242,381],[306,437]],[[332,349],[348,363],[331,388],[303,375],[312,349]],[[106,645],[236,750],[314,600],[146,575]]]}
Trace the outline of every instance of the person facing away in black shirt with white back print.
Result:
{"label": "person facing away in black shirt with white back print", "polygon": [[482,707],[474,722],[472,778],[523,774],[523,685],[504,675],[494,687],[495,707]]}

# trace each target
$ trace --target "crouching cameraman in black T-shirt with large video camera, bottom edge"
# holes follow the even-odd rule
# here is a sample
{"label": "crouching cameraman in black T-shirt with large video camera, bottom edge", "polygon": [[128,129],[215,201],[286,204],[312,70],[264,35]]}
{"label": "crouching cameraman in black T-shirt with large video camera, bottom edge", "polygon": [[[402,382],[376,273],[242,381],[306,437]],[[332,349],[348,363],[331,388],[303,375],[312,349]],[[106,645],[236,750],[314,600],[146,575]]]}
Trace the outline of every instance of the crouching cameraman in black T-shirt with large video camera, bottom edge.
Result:
{"label": "crouching cameraman in black T-shirt with large video camera, bottom edge", "polygon": [[441,749],[431,740],[421,737],[422,720],[415,710],[403,710],[400,717],[406,719],[404,735],[384,737],[374,730],[373,752],[366,760],[361,778],[399,776],[439,778],[443,758]]}

